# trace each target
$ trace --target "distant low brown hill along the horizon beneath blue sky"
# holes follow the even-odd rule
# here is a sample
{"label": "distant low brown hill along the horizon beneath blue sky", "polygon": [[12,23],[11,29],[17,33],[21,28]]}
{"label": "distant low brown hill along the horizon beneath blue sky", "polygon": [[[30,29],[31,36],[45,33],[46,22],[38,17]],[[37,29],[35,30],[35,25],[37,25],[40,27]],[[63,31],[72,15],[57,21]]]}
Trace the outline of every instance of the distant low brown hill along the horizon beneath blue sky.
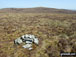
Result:
{"label": "distant low brown hill along the horizon beneath blue sky", "polygon": [[66,10],[66,9],[56,9],[56,8],[46,8],[46,7],[36,7],[36,8],[5,8],[0,9],[1,12],[13,12],[13,13],[66,13],[66,14],[76,14],[76,11]]}

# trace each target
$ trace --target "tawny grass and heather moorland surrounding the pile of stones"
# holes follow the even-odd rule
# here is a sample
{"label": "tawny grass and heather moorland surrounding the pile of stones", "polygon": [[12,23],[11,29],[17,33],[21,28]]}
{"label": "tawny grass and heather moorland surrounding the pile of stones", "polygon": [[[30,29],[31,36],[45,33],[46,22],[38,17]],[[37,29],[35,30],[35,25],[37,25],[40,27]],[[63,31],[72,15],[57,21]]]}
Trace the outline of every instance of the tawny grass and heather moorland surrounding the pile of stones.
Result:
{"label": "tawny grass and heather moorland surrounding the pile of stones", "polygon": [[[34,34],[39,46],[32,51],[14,46],[13,40]],[[50,13],[0,13],[0,57],[60,57],[76,52],[76,15]]]}

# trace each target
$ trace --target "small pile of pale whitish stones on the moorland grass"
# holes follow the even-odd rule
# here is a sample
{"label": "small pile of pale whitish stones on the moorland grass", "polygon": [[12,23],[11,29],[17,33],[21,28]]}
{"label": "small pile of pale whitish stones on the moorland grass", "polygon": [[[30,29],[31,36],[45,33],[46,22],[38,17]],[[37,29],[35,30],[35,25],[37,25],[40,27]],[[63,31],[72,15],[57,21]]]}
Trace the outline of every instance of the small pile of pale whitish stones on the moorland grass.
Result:
{"label": "small pile of pale whitish stones on the moorland grass", "polygon": [[26,44],[23,45],[22,47],[23,48],[28,48],[29,50],[32,50],[32,44],[36,44],[38,45],[39,44],[39,40],[37,37],[35,37],[34,35],[31,35],[31,34],[26,34],[26,35],[23,35],[17,39],[14,40],[14,44],[16,45],[19,45],[21,43],[25,42]]}

